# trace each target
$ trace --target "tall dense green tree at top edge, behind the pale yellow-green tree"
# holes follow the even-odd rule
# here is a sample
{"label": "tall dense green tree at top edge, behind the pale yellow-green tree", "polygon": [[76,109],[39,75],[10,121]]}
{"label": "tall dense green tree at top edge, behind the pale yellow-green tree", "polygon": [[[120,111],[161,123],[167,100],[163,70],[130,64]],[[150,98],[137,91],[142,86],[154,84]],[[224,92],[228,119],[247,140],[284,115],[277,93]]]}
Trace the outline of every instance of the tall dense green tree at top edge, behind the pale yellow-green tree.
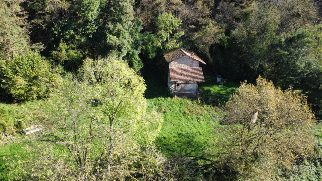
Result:
{"label": "tall dense green tree at top edge, behind the pale yellow-green tree", "polygon": [[105,16],[106,12],[109,16],[103,19],[103,31],[98,35],[105,37],[103,46],[100,47],[102,52],[117,55],[135,71],[139,71],[143,66],[138,55],[141,49],[139,32],[142,27],[141,21],[134,17],[133,3],[134,0],[111,0],[106,3],[102,7],[101,16]]}

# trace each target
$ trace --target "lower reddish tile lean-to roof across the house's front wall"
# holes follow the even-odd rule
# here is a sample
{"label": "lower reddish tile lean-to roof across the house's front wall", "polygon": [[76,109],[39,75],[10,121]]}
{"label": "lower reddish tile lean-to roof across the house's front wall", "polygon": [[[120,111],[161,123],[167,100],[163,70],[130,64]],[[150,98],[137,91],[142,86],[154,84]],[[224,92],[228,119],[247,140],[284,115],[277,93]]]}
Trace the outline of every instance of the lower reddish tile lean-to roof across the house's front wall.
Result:
{"label": "lower reddish tile lean-to roof across the house's front wall", "polygon": [[201,67],[170,67],[171,81],[204,82]]}

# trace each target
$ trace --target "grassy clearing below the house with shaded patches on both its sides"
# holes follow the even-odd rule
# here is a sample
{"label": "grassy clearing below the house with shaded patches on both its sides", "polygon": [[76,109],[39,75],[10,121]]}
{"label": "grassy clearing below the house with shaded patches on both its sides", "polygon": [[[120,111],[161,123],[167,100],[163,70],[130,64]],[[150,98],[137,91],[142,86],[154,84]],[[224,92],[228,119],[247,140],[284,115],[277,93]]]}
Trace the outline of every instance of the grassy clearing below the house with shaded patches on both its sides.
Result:
{"label": "grassy clearing below the house with shaded patches on both its sides", "polygon": [[229,100],[239,84],[216,83],[214,78],[207,77],[200,86],[201,97],[196,100],[170,98],[166,84],[158,79],[152,78],[146,83],[148,109],[163,114],[164,122],[155,143],[164,154],[202,159],[209,153],[207,150],[215,150],[221,136],[215,129],[222,126],[219,120],[224,113],[212,105],[218,99]]}

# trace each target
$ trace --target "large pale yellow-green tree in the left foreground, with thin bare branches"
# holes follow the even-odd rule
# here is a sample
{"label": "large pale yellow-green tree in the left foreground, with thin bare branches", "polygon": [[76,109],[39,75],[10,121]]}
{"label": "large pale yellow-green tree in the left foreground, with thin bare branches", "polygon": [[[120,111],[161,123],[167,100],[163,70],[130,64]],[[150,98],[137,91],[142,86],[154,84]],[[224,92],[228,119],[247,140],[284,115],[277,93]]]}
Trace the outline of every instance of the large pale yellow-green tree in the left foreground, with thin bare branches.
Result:
{"label": "large pale yellow-green tree in the left foreground, with thin bare branches", "polygon": [[162,118],[146,114],[142,77],[116,57],[87,59],[80,75],[82,81],[67,79],[44,109],[36,144],[42,159],[26,163],[37,170],[33,177],[170,180],[170,165],[151,144]]}

